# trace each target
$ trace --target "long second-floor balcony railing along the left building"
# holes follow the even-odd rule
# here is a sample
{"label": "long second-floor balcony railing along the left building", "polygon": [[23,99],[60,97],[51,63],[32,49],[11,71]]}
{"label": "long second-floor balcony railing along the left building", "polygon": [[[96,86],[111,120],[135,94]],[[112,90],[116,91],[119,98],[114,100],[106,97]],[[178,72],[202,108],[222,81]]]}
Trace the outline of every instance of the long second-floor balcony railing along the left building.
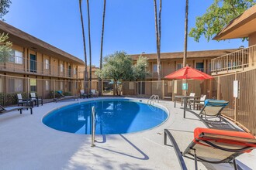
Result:
{"label": "long second-floor balcony railing along the left building", "polygon": [[12,56],[5,63],[0,63],[0,70],[13,73],[29,73],[42,76],[59,76],[64,78],[82,78],[83,70],[67,69],[49,63]]}

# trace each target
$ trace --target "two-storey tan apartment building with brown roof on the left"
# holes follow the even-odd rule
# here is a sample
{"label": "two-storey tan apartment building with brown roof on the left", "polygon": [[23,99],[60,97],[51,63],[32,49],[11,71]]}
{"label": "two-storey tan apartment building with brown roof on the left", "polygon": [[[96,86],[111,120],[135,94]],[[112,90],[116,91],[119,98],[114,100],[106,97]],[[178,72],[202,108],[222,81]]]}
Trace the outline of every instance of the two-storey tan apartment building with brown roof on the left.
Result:
{"label": "two-storey tan apartment building with brown roof on the left", "polygon": [[0,75],[5,75],[0,93],[36,91],[48,97],[52,90],[78,92],[85,68],[81,59],[0,21],[2,32],[9,34],[13,56],[0,63]]}

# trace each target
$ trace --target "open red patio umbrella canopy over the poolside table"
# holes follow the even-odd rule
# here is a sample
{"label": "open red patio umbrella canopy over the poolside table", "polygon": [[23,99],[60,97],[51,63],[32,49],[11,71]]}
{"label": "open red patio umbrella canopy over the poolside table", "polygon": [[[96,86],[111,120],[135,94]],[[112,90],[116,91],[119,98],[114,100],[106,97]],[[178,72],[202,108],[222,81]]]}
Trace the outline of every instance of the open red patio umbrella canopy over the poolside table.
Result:
{"label": "open red patio umbrella canopy over the poolside table", "polygon": [[205,80],[205,79],[213,79],[213,76],[209,76],[206,73],[202,73],[202,71],[191,68],[190,66],[185,66],[180,70],[175,71],[164,78],[168,79],[194,79],[194,80]]}

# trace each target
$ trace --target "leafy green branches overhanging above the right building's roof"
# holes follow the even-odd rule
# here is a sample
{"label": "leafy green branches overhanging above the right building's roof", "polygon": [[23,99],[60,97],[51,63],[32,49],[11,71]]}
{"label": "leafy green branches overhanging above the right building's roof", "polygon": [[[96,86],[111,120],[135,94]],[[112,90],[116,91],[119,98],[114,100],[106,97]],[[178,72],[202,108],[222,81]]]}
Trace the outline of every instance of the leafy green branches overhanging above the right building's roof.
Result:
{"label": "leafy green branches overhanging above the right building's roof", "polygon": [[232,19],[235,19],[255,3],[255,0],[214,0],[206,13],[196,18],[195,28],[191,29],[189,36],[199,42],[203,35],[209,41]]}

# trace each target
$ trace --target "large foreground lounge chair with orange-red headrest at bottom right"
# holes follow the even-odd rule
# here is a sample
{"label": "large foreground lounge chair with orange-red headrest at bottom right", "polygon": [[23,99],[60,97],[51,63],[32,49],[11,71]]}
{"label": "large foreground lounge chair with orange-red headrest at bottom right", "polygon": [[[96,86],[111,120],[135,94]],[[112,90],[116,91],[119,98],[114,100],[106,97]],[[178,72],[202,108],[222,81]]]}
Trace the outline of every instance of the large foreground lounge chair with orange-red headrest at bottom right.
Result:
{"label": "large foreground lounge chair with orange-red headrest at bottom right", "polygon": [[234,169],[237,169],[235,158],[256,148],[254,135],[247,132],[195,128],[192,142],[181,153],[175,139],[167,129],[164,130],[164,145],[167,145],[167,135],[183,169],[187,168],[182,156],[194,159],[195,169],[197,169],[197,161],[212,164],[233,162]]}

